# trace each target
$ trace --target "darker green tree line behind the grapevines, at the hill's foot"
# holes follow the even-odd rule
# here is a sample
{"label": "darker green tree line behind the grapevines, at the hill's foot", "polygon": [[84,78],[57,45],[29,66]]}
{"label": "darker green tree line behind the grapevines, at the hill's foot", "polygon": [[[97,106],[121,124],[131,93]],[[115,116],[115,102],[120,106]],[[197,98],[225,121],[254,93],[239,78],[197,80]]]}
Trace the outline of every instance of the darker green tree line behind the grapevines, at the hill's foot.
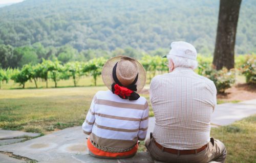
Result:
{"label": "darker green tree line behind the grapevines, at the hill's foot", "polygon": [[[150,51],[151,56],[163,56],[168,49],[157,49]],[[55,58],[62,64],[74,61],[89,61],[94,58],[110,58],[114,56],[125,55],[140,59],[145,54],[144,51],[126,47],[124,49],[116,48],[113,51],[102,49],[87,49],[78,52],[70,45],[60,47],[44,47],[40,43],[33,45],[13,47],[11,45],[0,44],[0,68],[22,68],[26,64],[36,65],[43,60],[54,60]]]}

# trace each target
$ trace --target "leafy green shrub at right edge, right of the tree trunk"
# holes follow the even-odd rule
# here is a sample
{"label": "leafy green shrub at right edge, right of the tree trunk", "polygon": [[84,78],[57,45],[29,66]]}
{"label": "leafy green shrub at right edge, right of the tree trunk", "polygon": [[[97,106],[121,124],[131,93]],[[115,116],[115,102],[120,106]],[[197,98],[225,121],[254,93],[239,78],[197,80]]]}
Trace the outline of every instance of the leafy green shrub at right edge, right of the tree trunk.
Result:
{"label": "leafy green shrub at right edge, right of the tree trunk", "polygon": [[245,75],[246,83],[256,84],[256,55],[246,55],[240,70]]}

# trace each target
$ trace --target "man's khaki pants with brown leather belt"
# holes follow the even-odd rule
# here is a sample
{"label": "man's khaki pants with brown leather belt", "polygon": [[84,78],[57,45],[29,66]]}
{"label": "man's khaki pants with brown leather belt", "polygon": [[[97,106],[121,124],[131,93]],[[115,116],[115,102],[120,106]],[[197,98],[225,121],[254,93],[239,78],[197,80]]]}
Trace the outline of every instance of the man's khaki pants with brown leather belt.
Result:
{"label": "man's khaki pants with brown leather belt", "polygon": [[217,162],[224,162],[227,155],[224,144],[219,140],[215,140],[214,138],[211,138],[208,146],[203,151],[197,154],[178,155],[164,152],[156,146],[156,144],[154,143],[154,138],[147,139],[145,141],[145,146],[148,152],[150,152],[150,155],[153,159],[164,162],[206,163],[212,160]]}

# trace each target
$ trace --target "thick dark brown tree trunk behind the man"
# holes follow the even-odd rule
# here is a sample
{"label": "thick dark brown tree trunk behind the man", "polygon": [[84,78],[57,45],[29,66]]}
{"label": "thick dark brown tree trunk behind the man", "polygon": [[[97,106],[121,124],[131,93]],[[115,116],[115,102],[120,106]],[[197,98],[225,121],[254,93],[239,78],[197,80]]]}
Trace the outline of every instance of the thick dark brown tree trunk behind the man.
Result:
{"label": "thick dark brown tree trunk behind the man", "polygon": [[234,45],[242,0],[220,0],[213,64],[217,70],[234,68]]}

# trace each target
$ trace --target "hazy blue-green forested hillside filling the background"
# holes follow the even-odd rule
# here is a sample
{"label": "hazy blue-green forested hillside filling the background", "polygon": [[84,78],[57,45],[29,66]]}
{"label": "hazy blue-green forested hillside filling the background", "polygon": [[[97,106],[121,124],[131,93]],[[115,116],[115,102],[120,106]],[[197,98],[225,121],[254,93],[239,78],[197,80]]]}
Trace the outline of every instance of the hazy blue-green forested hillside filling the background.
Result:
{"label": "hazy blue-green forested hillside filling the background", "polygon": [[[176,40],[212,53],[219,1],[27,0],[0,8],[0,44],[82,49],[169,48]],[[256,51],[256,3],[243,0],[236,51]]]}

